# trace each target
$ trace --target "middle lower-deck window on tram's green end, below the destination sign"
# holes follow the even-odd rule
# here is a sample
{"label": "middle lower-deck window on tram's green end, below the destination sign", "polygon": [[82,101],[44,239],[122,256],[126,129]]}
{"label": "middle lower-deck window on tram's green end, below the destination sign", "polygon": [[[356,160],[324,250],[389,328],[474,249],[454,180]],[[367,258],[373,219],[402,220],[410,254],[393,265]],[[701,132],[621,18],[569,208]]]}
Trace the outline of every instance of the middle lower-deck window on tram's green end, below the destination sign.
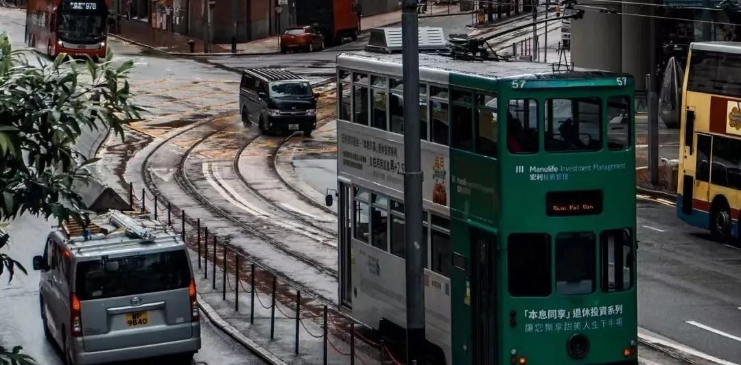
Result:
{"label": "middle lower-deck window on tram's green end, below the destination sign", "polygon": [[591,232],[559,233],[556,236],[556,293],[594,292],[596,244]]}

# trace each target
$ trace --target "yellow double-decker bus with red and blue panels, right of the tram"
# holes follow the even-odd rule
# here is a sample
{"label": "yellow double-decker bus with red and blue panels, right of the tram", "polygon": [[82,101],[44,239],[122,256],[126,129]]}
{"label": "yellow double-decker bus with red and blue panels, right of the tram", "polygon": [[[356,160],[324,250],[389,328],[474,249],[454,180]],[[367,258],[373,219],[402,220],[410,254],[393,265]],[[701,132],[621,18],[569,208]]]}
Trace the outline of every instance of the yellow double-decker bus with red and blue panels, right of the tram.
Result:
{"label": "yellow double-decker bus with red and blue panels, right of the tram", "polygon": [[692,43],[687,65],[677,215],[731,242],[741,208],[741,43]]}

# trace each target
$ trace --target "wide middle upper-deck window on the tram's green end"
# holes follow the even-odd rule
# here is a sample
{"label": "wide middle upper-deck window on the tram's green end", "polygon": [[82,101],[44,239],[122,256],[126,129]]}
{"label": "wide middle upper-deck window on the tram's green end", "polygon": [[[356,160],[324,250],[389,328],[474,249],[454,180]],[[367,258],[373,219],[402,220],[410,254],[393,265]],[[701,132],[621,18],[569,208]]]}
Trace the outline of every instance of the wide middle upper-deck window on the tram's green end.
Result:
{"label": "wide middle upper-deck window on the tram's green end", "polygon": [[602,148],[602,106],[598,98],[548,99],[545,104],[546,151]]}

